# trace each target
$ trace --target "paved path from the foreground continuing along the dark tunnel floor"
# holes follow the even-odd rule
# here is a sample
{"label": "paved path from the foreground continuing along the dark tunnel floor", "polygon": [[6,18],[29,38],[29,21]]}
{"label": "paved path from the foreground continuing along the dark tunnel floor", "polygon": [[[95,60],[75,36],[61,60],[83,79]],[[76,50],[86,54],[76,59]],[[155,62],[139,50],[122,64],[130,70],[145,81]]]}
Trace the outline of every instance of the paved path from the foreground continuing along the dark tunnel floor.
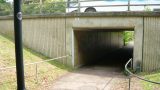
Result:
{"label": "paved path from the foreground continuing along the dark tunnel floor", "polygon": [[[107,53],[93,65],[71,72],[57,80],[50,90],[128,90],[125,63],[132,57],[133,45]],[[131,90],[143,90],[139,80],[131,80]]]}

